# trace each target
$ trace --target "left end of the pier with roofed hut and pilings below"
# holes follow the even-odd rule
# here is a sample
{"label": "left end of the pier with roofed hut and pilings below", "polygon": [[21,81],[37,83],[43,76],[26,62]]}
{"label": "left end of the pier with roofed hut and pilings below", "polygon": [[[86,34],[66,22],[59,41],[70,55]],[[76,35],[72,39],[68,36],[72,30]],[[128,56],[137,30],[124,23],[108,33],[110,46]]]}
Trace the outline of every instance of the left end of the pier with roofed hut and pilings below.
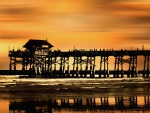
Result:
{"label": "left end of the pier with roofed hut and pilings below", "polygon": [[17,50],[10,51],[10,67],[9,70],[16,70],[16,65],[21,64],[22,70],[34,70],[36,74],[40,74],[46,62],[46,55],[51,51],[51,45],[47,40],[30,39],[24,46],[25,51]]}

